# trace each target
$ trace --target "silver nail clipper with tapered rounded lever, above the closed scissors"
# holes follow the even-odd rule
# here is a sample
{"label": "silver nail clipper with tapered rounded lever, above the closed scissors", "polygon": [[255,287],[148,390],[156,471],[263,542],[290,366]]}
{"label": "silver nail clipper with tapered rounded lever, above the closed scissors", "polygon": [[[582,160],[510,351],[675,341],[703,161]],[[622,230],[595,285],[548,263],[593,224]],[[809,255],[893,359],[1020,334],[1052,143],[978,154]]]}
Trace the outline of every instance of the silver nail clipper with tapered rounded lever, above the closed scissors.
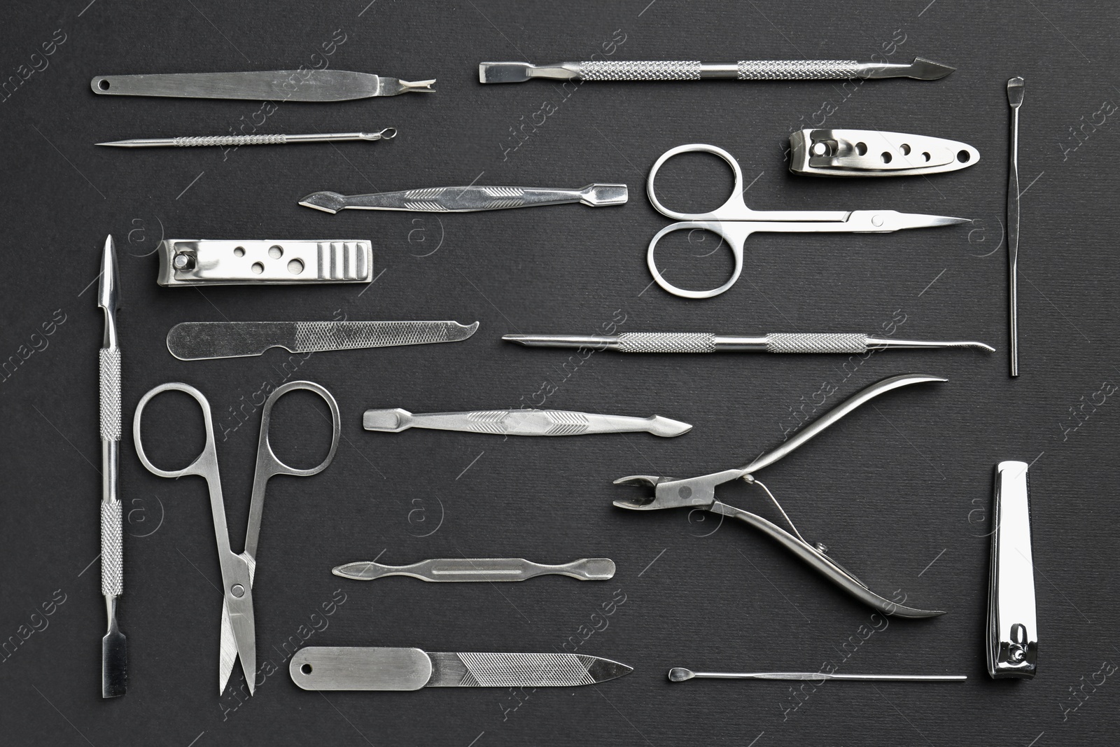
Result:
{"label": "silver nail clipper with tapered rounded lever, above the closed scissors", "polygon": [[972,146],[879,130],[800,130],[790,136],[790,170],[802,176],[917,176],[980,160]]}

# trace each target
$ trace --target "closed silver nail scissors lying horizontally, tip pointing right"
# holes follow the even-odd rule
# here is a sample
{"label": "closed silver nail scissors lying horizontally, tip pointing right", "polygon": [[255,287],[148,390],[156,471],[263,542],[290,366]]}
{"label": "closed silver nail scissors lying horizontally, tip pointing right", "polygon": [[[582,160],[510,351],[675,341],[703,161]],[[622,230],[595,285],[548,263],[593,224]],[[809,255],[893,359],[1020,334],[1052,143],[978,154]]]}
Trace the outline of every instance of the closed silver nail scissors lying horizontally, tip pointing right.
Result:
{"label": "closed silver nail scissors lying horizontally, tip pointing right", "polygon": [[[735,175],[734,188],[727,202],[710,213],[678,213],[661,204],[653,186],[657,178],[657,171],[665,161],[681,153],[712,153],[727,161]],[[902,228],[928,228],[970,223],[969,218],[898,213],[897,211],[753,211],[743,200],[744,190],[743,169],[739,167],[739,162],[722,148],[692,143],[678,146],[662,153],[646,179],[646,193],[659,213],[665,217],[681,221],[681,223],[673,223],[659,231],[650,242],[650,251],[646,253],[650,272],[653,273],[653,279],[662,289],[681,298],[719,296],[739,279],[739,273],[743,272],[744,245],[753,233],[892,233]],[[730,279],[719,288],[711,290],[678,288],[665,280],[657,269],[654,250],[662,236],[674,231],[696,231],[698,228],[717,234],[731,249],[735,269],[731,271]]]}

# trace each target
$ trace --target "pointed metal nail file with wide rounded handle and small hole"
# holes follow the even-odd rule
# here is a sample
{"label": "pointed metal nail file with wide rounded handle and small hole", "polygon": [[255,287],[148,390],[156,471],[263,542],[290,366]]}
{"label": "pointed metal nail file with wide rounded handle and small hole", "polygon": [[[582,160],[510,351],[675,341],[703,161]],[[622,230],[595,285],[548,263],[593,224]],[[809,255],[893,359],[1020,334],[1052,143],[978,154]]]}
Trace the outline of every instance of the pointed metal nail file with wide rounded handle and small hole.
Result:
{"label": "pointed metal nail file with wide rounded handle and small hole", "polygon": [[307,646],[288,672],[304,690],[573,688],[634,667],[587,654],[427,653],[419,648]]}

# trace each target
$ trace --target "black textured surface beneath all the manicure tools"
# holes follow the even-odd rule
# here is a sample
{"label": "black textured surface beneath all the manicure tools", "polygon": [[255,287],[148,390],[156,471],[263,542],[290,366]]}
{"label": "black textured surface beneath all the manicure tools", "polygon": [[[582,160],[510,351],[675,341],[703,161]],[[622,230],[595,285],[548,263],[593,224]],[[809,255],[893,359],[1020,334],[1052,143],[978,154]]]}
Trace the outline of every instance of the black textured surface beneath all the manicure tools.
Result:
{"label": "black textured surface beneath all the manicure tools", "polygon": [[[1074,745],[1116,731],[1118,542],[1114,381],[1114,121],[1118,12],[1107,2],[324,3],[112,0],[9,4],[0,103],[4,318],[0,384],[6,469],[0,639],[8,744],[740,744]],[[648,4],[647,4],[648,2]],[[54,54],[43,44],[54,38]],[[58,43],[63,39],[62,43]],[[334,46],[332,46],[334,40]],[[321,64],[402,78],[438,93],[338,104],[100,97],[99,74],[220,72]],[[48,44],[48,47],[50,45]],[[482,86],[477,63],[582,59],[856,58],[955,65],[948,78],[839,83]],[[20,66],[27,66],[20,84]],[[40,69],[28,73],[36,66]],[[1023,375],[1007,376],[1005,83],[1026,77],[1020,174]],[[548,103],[545,103],[548,102]],[[547,116],[535,114],[550,110]],[[822,120],[823,118],[823,120]],[[400,128],[391,142],[125,151],[94,142],[261,132]],[[533,124],[535,122],[535,125]],[[979,165],[932,178],[825,180],[786,171],[791,130],[827,123],[967,141]],[[511,128],[524,124],[521,144]],[[665,225],[644,197],[668,148],[731,151],[766,209],[892,207],[962,215],[971,226],[883,236],[752,237],[744,278],[685,301],[650,287],[648,237]],[[711,167],[710,169],[707,167]],[[666,171],[675,204],[729,188],[702,159]],[[670,181],[675,186],[671,186]],[[628,205],[474,215],[329,216],[297,199],[469,184],[575,187],[626,181]],[[694,206],[702,207],[694,203]],[[125,430],[140,395],[186,381],[211,400],[232,543],[241,548],[262,389],[286,377],[327,386],[343,412],[330,468],[269,488],[254,588],[259,662],[278,670],[252,699],[218,699],[218,567],[205,485],[147,473],[122,445],[128,511],[121,626],[130,687],[99,697],[95,279],[105,234],[123,279]],[[376,282],[315,288],[161,289],[161,237],[363,237]],[[727,271],[724,252],[683,242],[664,253],[694,287]],[[92,284],[91,284],[92,283]],[[316,354],[292,372],[281,351],[184,363],[167,330],[183,320],[458,319],[479,332],[452,345]],[[63,319],[62,323],[58,320]],[[500,342],[505,333],[623,330],[880,332],[973,338],[999,348],[843,358],[567,354]],[[54,326],[50,321],[54,320]],[[44,323],[53,334],[44,336]],[[9,356],[16,356],[10,363]],[[778,443],[792,412],[825,407],[884,376],[930,372],[950,383],[888,394],[759,475],[803,534],[874,589],[944,608],[934,620],[880,618],[745,526],[712,532],[680,511],[634,514],[610,501],[633,473],[694,475]],[[541,403],[694,423],[646,435],[508,439],[366,433],[361,412]],[[802,399],[804,398],[804,399]],[[819,396],[818,396],[819,401]],[[146,422],[150,450],[185,464],[200,419],[174,396]],[[244,408],[236,427],[234,409]],[[806,408],[806,411],[811,408]],[[1076,411],[1076,413],[1074,413]],[[160,427],[160,422],[166,423]],[[328,430],[315,401],[277,408],[278,452],[310,465]],[[1033,463],[1039,674],[984,672],[992,466]],[[758,495],[730,486],[732,503]],[[768,515],[772,515],[769,512]],[[384,554],[381,554],[384,553]],[[351,560],[610,557],[610,582],[357,583]],[[613,599],[625,601],[610,606]],[[52,599],[55,604],[52,605]],[[332,600],[335,606],[330,606]],[[342,604],[337,604],[343,599]],[[63,600],[62,604],[57,604]],[[43,614],[44,605],[53,614]],[[324,614],[324,605],[333,614]],[[603,616],[606,608],[613,614]],[[36,610],[39,610],[36,613]],[[283,644],[429,651],[579,651],[633,674],[595,688],[328,693],[297,689]],[[588,631],[595,631],[590,636]],[[866,636],[866,633],[864,634]],[[862,639],[848,645],[850,638]],[[26,639],[25,639],[26,638]],[[15,643],[12,643],[15,641]],[[673,685],[670,666],[964,673],[963,684],[829,683],[794,700],[790,683]],[[240,666],[233,685],[243,684]]]}

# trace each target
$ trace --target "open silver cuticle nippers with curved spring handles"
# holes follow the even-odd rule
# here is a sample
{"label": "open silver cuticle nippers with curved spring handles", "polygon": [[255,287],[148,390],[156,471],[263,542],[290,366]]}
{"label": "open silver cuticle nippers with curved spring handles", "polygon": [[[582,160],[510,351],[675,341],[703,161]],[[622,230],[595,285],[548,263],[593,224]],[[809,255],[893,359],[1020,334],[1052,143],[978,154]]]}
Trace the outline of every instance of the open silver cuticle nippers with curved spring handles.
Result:
{"label": "open silver cuticle nippers with curved spring handles", "polygon": [[[871,591],[867,588],[867,585],[860,581],[859,578],[857,578],[851,571],[847,570],[843,566],[830,558],[827,554],[828,548],[825,548],[822,543],[818,542],[815,545],[812,545],[806,542],[805,539],[801,536],[796,526],[793,525],[793,522],[790,521],[785,510],[782,508],[774,495],[765,485],[755,479],[754,476],[755,471],[774,464],[782,457],[785,457],[791,451],[803,446],[821,431],[836,423],[846,414],[865,402],[875,399],[879,394],[889,392],[890,390],[898,389],[900,386],[907,386],[909,384],[943,381],[948,380],[942,379],[941,376],[931,376],[925,374],[903,374],[899,376],[884,379],[883,381],[848,398],[809,426],[805,426],[800,432],[782,443],[782,446],[762,455],[745,467],[725,469],[722,471],[712,473],[711,475],[702,475],[700,477],[690,477],[687,479],[656,477],[654,475],[631,475],[628,477],[616,479],[615,484],[650,486],[654,488],[653,496],[641,499],[631,498],[626,501],[615,501],[614,503],[619,508],[631,508],[634,511],[655,511],[659,508],[691,508],[694,511],[699,508],[709,511],[720,516],[738,519],[739,521],[750,524],[778,542],[778,544],[793,552],[810,568],[851,596],[887,615],[897,615],[898,617],[934,617],[936,615],[943,615],[944,613],[937,610],[906,607]],[[773,501],[774,505],[777,506],[778,512],[781,512],[782,517],[785,519],[785,522],[788,524],[793,533],[791,534],[786,530],[766,519],[763,519],[762,516],[758,516],[757,514],[743,511],[741,508],[736,508],[735,506],[730,506],[716,498],[716,487],[722,485],[724,483],[730,483],[737,479],[743,479],[750,485],[758,485],[771,498],[771,501]]]}

